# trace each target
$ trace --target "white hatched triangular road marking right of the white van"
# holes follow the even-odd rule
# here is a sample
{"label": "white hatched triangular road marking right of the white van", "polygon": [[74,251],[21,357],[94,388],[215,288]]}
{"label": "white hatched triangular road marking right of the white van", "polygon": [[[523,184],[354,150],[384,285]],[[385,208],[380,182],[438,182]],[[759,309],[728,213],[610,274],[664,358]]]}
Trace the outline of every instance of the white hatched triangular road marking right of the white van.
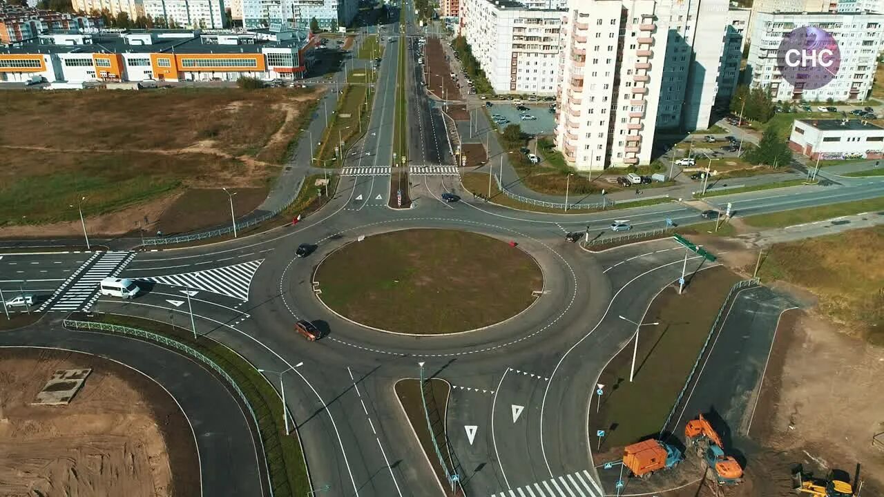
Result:
{"label": "white hatched triangular road marking right of the white van", "polygon": [[263,262],[263,259],[257,259],[255,261],[202,271],[137,278],[137,280],[160,283],[171,287],[195,288],[212,292],[213,294],[226,295],[241,301],[248,301],[248,289],[252,285],[252,278]]}

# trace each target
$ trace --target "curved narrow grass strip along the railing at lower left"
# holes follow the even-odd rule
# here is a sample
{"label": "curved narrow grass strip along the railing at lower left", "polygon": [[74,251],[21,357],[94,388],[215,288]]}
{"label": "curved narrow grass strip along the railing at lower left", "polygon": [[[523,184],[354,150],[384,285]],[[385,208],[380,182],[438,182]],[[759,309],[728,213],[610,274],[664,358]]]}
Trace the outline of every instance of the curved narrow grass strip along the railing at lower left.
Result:
{"label": "curved narrow grass strip along the railing at lower left", "polygon": [[[190,330],[173,328],[157,321],[114,314],[101,314],[98,317],[80,314],[72,316],[72,319],[100,321],[156,333],[170,337],[209,357],[233,378],[255,410],[255,417],[258,419],[257,428],[263,437],[264,452],[271,472],[273,494],[294,496],[309,492],[310,482],[301,454],[301,443],[296,436],[286,437],[282,401],[277,391],[255,369],[255,366],[216,340],[202,337],[194,341],[194,335]],[[246,416],[248,417],[248,414]]]}

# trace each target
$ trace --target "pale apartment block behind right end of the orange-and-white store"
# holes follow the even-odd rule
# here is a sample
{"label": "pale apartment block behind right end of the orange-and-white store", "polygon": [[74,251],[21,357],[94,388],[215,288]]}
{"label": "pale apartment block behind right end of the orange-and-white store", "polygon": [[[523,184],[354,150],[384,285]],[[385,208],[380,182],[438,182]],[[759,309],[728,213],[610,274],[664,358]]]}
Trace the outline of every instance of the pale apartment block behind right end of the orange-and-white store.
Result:
{"label": "pale apartment block behind right end of the orange-and-white store", "polygon": [[292,23],[310,26],[316,19],[320,29],[349,26],[359,13],[359,0],[241,0],[243,25],[247,28]]}

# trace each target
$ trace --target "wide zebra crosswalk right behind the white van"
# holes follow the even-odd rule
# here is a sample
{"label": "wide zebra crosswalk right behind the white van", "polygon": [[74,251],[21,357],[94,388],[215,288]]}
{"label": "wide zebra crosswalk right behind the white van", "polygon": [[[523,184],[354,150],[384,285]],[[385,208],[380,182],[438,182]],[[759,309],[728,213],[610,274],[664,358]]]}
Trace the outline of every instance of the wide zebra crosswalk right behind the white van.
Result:
{"label": "wide zebra crosswalk right behind the white van", "polygon": [[102,279],[117,276],[135,256],[129,251],[96,252],[80,265],[37,309],[49,312],[89,310],[98,300]]}

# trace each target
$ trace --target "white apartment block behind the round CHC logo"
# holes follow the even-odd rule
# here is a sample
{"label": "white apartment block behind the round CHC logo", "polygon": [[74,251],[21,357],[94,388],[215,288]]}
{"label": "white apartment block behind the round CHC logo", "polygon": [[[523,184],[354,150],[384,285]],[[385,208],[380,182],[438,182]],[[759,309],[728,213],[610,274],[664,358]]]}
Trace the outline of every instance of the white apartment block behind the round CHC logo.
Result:
{"label": "white apartment block behind the round CHC logo", "polygon": [[[841,52],[834,79],[821,88],[783,78],[777,60],[783,38],[799,27],[831,34]],[[863,101],[872,91],[876,57],[884,45],[884,15],[874,13],[759,12],[752,26],[746,66],[753,87],[767,88],[775,101]]]}

